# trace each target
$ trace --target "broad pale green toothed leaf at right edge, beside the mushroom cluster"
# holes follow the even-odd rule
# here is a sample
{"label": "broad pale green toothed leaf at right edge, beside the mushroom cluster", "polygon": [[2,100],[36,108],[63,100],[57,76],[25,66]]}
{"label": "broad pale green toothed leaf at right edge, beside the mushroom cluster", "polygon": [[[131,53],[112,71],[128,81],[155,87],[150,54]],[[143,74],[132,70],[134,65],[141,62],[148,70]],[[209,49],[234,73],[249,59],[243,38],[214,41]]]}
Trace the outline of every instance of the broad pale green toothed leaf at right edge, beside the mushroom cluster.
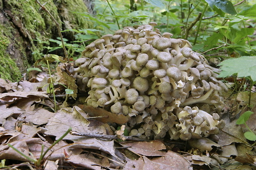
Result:
{"label": "broad pale green toothed leaf at right edge, beside the mushroom cluster", "polygon": [[237,77],[249,77],[256,81],[256,56],[242,56],[230,58],[219,64],[220,75],[218,77],[228,77],[237,74]]}

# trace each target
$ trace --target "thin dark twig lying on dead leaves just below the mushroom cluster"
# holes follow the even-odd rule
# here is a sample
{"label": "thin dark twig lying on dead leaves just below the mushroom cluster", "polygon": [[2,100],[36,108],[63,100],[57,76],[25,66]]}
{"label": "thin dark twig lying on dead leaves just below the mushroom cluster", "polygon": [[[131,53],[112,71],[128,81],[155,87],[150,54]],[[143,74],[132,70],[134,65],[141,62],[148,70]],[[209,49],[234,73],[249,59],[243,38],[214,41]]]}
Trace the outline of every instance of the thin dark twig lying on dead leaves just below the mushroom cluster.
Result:
{"label": "thin dark twig lying on dead leaves just below the mushroom cluster", "polygon": [[[120,139],[118,135],[102,135],[102,134],[92,134],[92,133],[81,133],[76,131],[71,131],[70,134],[76,135],[76,136],[92,137],[92,138],[99,138],[99,139],[106,139],[106,140]],[[141,139],[139,137],[133,137],[133,136],[122,136],[122,138],[125,138],[125,140],[131,140],[131,141],[151,141],[148,139]]]}

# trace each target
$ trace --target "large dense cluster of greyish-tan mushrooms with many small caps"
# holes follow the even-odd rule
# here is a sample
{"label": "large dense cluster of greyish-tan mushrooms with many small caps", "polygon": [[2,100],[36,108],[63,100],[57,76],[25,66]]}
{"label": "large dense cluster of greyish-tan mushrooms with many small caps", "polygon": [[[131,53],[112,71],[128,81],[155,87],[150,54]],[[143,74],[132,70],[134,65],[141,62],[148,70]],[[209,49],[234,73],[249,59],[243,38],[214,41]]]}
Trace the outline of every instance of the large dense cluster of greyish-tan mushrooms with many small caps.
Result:
{"label": "large dense cluster of greyish-tan mushrooms with many small caps", "polygon": [[227,90],[190,42],[149,25],[126,27],[89,44],[69,68],[85,102],[129,117],[130,135],[189,140],[218,134]]}

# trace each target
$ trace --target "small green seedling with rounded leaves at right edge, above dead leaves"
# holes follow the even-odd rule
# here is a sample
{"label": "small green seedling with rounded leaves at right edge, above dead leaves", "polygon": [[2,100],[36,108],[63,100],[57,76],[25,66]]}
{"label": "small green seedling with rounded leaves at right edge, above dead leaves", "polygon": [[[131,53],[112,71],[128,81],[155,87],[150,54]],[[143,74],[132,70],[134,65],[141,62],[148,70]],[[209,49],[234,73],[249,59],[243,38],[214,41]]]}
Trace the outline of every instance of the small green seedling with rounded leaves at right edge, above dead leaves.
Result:
{"label": "small green seedling with rounded leaves at right edge, above dead leaves", "polygon": [[252,140],[255,141],[256,140],[256,135],[255,133],[248,127],[246,121],[250,118],[251,114],[254,114],[254,112],[251,111],[247,111],[244,112],[244,114],[242,114],[238,119],[237,119],[237,125],[242,125],[244,124],[244,126],[247,127],[247,129],[249,130],[248,132],[244,133],[244,137],[247,138],[248,140]]}

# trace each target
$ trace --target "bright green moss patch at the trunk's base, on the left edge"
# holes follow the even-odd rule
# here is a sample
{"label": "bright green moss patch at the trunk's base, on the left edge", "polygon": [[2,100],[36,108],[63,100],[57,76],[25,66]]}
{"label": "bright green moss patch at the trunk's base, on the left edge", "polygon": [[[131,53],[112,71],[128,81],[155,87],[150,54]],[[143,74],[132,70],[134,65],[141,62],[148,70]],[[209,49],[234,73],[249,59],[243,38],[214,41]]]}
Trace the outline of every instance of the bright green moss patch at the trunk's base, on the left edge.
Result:
{"label": "bright green moss patch at the trunk's base, on the left edge", "polygon": [[9,44],[8,38],[0,34],[0,75],[2,79],[16,82],[21,78],[21,73],[16,63],[5,53],[5,49]]}

